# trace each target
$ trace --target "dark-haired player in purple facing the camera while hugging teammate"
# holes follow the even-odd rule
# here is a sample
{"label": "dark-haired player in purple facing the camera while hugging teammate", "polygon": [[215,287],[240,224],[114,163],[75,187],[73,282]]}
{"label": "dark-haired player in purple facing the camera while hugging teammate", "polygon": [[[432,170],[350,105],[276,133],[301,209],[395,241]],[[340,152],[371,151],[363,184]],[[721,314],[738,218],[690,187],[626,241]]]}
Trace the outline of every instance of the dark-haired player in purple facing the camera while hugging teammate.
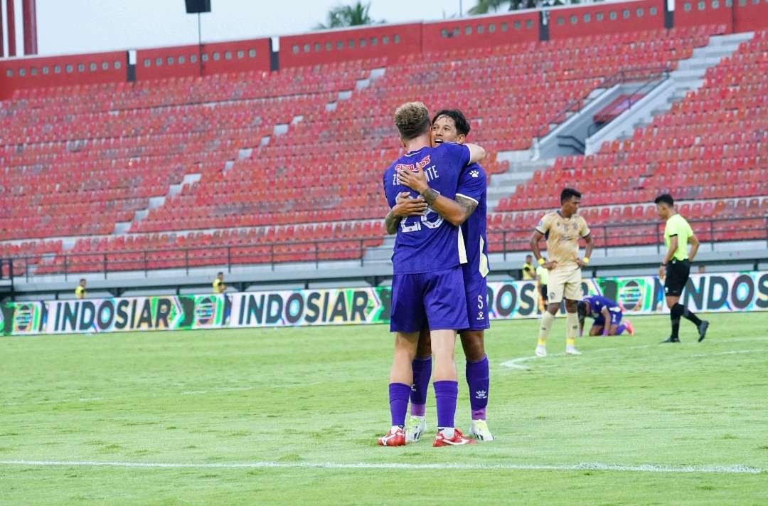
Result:
{"label": "dark-haired player in purple facing the camera while hugging teammate", "polygon": [[[470,125],[461,111],[444,109],[432,119],[432,142],[463,144],[470,130]],[[426,183],[422,181],[422,185]],[[422,188],[411,186],[415,191]],[[472,408],[470,435],[478,441],[493,441],[493,435],[485,421],[485,409],[488,405],[490,369],[485,355],[485,329],[488,324],[488,240],[485,236],[487,219],[486,176],[480,165],[472,164],[464,171],[456,190],[456,206],[464,211],[454,213],[461,225],[467,251],[467,263],[462,265],[465,297],[467,300],[467,318],[469,327],[462,329],[459,335],[466,357],[465,375],[469,387],[469,403]],[[409,198],[400,198],[392,209],[396,215],[407,216],[419,211],[417,203]],[[445,217],[450,219],[449,216]],[[412,363],[413,387],[411,391],[411,418],[406,428],[406,442],[419,441],[425,431],[425,404],[429,376],[432,373],[429,329],[422,330],[419,347]]]}

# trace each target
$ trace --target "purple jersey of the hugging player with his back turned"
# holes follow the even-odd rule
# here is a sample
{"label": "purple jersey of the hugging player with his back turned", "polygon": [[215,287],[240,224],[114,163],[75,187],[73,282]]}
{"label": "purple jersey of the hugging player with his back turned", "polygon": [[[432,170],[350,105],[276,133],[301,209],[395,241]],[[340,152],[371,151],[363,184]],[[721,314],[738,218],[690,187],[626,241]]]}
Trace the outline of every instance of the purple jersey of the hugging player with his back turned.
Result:
{"label": "purple jersey of the hugging player with his back turned", "polygon": [[[469,148],[450,142],[443,142],[436,148],[424,147],[402,156],[384,172],[384,192],[389,207],[396,204],[397,195],[402,191],[409,191],[412,197],[418,196],[415,191],[400,185],[398,170],[422,168],[430,188],[445,198],[455,199],[459,177],[468,163]],[[466,252],[459,228],[432,209],[424,216],[409,216],[400,221],[392,252],[394,274],[442,271],[465,261]]]}

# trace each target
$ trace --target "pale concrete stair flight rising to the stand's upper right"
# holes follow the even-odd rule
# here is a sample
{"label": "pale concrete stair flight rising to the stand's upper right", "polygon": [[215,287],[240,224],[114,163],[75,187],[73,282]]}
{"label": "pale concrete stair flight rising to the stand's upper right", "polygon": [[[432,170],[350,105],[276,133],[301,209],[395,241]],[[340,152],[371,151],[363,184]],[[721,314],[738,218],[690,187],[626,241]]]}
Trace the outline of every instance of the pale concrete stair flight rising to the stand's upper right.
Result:
{"label": "pale concrete stair flight rising to the stand's upper right", "polygon": [[630,138],[637,128],[643,128],[650,124],[655,116],[669,111],[672,105],[703,85],[707,69],[716,67],[723,58],[733,55],[739,45],[749,41],[753,35],[753,32],[746,32],[711,36],[706,46],[695,48],[690,58],[678,62],[677,69],[670,72],[665,82],[654,88],[627,112],[587,138],[584,141],[585,154],[591,155],[599,151],[605,142]]}

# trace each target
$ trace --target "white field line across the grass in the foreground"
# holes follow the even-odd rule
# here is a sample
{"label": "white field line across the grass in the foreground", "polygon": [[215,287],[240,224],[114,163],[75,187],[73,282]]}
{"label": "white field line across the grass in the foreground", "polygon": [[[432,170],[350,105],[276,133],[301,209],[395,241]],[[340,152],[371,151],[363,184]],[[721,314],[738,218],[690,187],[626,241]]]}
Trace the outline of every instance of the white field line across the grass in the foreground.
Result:
{"label": "white field line across the grass in the foreground", "polygon": [[662,464],[603,464],[584,462],[581,464],[398,464],[398,463],[340,463],[340,462],[242,462],[242,463],[177,463],[177,462],[121,462],[121,461],[0,461],[3,466],[20,467],[81,467],[81,468],[145,468],[145,469],[253,469],[253,468],[298,468],[298,469],[457,469],[462,471],[621,471],[634,473],[670,474],[761,474],[766,469],[746,465],[681,465]]}

